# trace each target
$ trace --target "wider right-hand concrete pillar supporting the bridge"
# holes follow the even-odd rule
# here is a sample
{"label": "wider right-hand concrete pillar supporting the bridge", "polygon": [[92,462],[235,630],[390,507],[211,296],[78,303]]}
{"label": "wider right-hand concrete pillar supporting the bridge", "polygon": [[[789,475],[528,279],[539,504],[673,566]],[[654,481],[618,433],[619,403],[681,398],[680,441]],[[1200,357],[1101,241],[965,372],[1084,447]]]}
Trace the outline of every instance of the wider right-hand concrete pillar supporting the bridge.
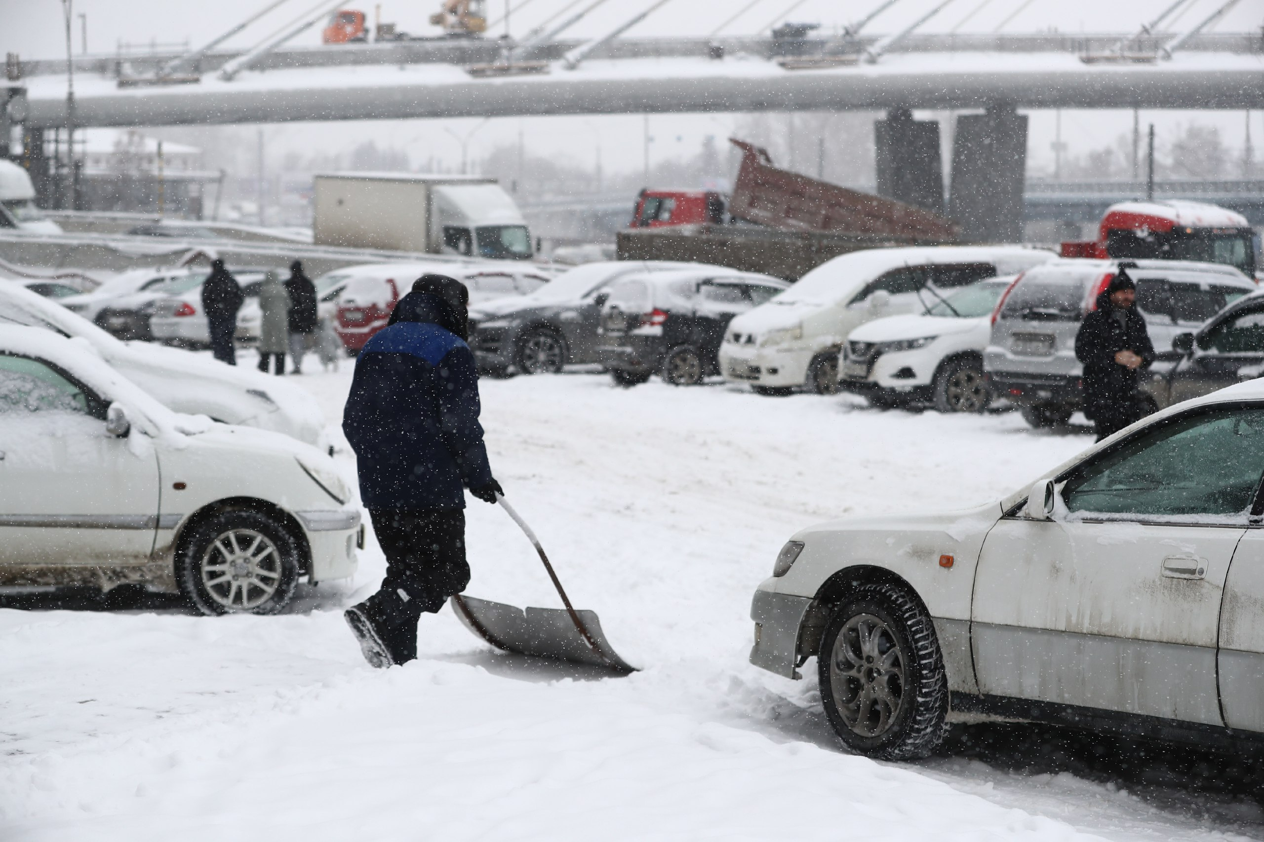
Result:
{"label": "wider right-hand concrete pillar supporting the bridge", "polygon": [[1028,119],[1012,105],[957,117],[948,216],[966,242],[1023,240]]}

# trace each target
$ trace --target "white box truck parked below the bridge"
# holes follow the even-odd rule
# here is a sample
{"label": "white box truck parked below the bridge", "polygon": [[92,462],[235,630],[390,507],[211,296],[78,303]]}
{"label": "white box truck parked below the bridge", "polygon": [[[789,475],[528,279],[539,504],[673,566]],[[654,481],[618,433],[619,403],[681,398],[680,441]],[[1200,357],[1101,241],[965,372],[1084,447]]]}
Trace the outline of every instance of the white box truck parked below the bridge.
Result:
{"label": "white box truck parked below the bridge", "polygon": [[518,206],[494,178],[322,173],[313,203],[317,245],[498,260],[535,256]]}

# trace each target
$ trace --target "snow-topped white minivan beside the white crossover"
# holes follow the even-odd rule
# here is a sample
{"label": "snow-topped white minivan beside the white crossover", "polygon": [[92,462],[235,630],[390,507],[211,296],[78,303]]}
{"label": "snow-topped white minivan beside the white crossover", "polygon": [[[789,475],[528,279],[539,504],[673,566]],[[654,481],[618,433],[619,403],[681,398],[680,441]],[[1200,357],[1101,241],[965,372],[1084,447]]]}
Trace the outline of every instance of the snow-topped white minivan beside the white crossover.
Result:
{"label": "snow-topped white minivan beside the white crossover", "polygon": [[925,307],[919,295],[947,295],[1054,258],[1020,246],[910,246],[841,255],[734,318],[719,350],[720,372],[761,394],[800,386],[833,393],[843,341],[862,323],[918,312]]}

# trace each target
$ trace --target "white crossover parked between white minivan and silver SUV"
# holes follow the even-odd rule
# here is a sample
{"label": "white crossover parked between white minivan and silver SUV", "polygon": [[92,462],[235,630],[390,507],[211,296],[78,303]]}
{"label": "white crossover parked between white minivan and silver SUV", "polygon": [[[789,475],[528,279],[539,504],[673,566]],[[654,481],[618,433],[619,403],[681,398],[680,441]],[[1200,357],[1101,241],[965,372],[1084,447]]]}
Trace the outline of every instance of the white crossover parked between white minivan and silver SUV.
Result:
{"label": "white crossover parked between white minivan and silver SUV", "polygon": [[990,394],[983,348],[992,309],[1014,275],[981,280],[933,302],[920,316],[889,316],[851,332],[839,356],[844,391],[875,406],[930,400],[942,413],[981,413]]}

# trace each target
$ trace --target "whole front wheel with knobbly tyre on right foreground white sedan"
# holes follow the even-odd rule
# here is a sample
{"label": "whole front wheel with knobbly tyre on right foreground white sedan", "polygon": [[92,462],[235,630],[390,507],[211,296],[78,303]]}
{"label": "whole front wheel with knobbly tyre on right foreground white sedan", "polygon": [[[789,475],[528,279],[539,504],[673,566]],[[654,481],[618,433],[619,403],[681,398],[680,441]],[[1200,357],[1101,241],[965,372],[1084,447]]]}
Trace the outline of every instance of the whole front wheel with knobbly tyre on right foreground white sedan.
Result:
{"label": "whole front wheel with knobbly tyre on right foreground white sedan", "polygon": [[825,626],[818,655],[829,725],[878,760],[925,757],[944,735],[948,679],[934,624],[894,584],[852,592]]}

